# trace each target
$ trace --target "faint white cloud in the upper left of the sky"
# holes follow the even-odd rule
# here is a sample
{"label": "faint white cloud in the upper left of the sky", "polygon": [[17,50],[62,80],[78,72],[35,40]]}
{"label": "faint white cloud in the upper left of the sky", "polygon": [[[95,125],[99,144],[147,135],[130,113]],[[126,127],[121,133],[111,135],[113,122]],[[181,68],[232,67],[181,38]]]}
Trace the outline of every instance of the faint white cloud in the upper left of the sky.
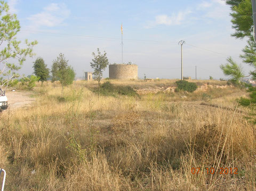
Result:
{"label": "faint white cloud in the upper left of the sky", "polygon": [[63,21],[70,15],[66,4],[51,3],[44,7],[43,11],[29,16],[27,19],[31,22],[30,27],[36,29],[45,27],[55,27],[63,24]]}

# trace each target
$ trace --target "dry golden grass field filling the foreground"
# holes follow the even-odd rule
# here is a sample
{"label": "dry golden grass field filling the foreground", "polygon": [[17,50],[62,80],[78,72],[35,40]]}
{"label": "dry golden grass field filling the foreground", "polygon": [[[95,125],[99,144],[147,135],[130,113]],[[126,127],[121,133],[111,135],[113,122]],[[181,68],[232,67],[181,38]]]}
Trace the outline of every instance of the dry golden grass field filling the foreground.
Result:
{"label": "dry golden grass field filling the foreground", "polygon": [[[111,82],[141,89],[175,80]],[[48,82],[30,107],[0,114],[5,190],[255,190],[255,126],[236,104],[245,90],[98,100],[94,86],[76,81],[61,98]]]}

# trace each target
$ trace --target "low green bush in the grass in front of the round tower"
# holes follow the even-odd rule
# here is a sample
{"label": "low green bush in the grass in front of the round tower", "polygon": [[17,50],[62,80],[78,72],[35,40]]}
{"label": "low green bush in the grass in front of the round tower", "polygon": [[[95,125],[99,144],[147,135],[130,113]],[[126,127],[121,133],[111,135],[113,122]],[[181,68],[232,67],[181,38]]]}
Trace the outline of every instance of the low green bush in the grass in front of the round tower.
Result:
{"label": "low green bush in the grass in front of the round tower", "polygon": [[104,82],[100,87],[101,95],[127,95],[136,96],[137,92],[131,86],[114,86],[109,81]]}

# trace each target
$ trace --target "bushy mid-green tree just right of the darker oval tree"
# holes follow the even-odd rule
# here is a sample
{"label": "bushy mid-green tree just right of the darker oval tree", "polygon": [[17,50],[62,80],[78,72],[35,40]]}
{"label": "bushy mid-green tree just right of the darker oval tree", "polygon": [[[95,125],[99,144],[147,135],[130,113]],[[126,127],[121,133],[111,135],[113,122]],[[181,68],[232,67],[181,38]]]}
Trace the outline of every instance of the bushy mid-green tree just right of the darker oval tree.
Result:
{"label": "bushy mid-green tree just right of the darker oval tree", "polygon": [[63,95],[64,86],[70,85],[75,79],[75,72],[73,68],[68,65],[68,60],[65,59],[64,54],[60,53],[53,63],[57,63],[57,79],[61,83],[61,97]]}

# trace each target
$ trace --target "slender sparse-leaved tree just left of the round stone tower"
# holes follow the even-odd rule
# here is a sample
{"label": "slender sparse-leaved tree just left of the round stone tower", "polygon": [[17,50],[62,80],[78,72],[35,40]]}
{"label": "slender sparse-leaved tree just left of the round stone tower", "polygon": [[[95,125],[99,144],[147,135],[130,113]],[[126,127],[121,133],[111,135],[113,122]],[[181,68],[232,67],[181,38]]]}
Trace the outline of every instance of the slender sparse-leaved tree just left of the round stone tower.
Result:
{"label": "slender sparse-leaved tree just left of the round stone tower", "polygon": [[93,75],[94,79],[98,81],[98,99],[100,96],[100,80],[102,79],[102,73],[107,68],[109,64],[107,53],[104,51],[104,54],[101,54],[100,49],[98,48],[98,55],[94,52],[92,53],[93,59],[90,62],[91,67],[94,69]]}

